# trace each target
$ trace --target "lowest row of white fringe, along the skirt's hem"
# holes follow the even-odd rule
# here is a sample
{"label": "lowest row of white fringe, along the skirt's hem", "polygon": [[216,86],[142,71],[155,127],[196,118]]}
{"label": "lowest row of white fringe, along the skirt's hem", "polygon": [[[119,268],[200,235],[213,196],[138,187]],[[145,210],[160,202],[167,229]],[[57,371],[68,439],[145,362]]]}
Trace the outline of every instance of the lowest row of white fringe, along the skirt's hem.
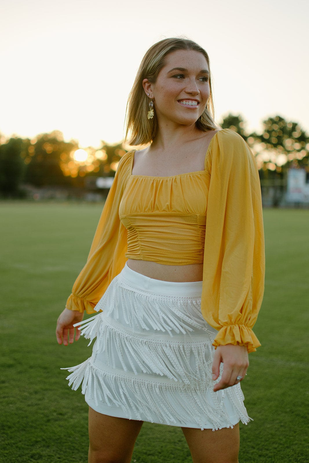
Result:
{"label": "lowest row of white fringe, along the skirt's hem", "polygon": [[[121,375],[98,368],[91,358],[68,370],[71,374],[67,379],[73,390],[82,383],[82,394],[85,394],[87,389],[87,393],[96,404],[103,400],[108,406],[121,407],[129,419],[146,417],[151,423],[156,421],[172,425],[177,423],[176,418],[183,425],[195,422],[203,429],[203,416],[206,415],[213,425],[213,430],[221,429],[226,423],[230,423],[223,406],[223,399],[227,394],[242,423],[247,424],[250,420],[246,408],[234,392],[235,387],[221,391],[220,394],[201,384],[189,387],[183,384],[169,384],[168,380],[151,381],[133,374]],[[214,402],[214,406],[209,403],[209,399]],[[191,407],[186,406],[188,403]],[[132,416],[131,410],[135,417]],[[230,425],[233,426],[232,423]]]}

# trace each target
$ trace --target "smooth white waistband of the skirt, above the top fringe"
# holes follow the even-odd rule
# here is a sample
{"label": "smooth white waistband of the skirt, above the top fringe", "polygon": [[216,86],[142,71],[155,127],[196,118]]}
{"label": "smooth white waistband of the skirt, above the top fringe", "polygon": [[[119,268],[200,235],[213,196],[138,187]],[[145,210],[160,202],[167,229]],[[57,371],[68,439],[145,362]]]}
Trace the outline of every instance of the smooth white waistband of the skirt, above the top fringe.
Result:
{"label": "smooth white waistband of the skirt, above the top fringe", "polygon": [[164,294],[176,294],[176,295],[188,295],[188,294],[202,294],[202,281],[201,282],[165,282],[164,280],[155,280],[149,276],[143,275],[130,269],[125,264],[124,268],[120,272],[120,276],[136,286],[139,289],[146,289],[157,293]]}

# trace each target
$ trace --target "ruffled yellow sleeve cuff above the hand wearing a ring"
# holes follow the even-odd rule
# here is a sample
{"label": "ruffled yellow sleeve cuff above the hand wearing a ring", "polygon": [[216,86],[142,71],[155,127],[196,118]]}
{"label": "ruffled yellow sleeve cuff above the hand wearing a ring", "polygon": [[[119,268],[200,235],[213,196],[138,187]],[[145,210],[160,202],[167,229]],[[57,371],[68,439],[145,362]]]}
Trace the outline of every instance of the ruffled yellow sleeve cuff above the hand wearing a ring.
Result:
{"label": "ruffled yellow sleeve cuff above the hand wearing a ring", "polygon": [[261,345],[252,329],[246,325],[223,326],[214,338],[213,345],[217,348],[219,345],[226,344],[245,345],[248,352],[254,352]]}

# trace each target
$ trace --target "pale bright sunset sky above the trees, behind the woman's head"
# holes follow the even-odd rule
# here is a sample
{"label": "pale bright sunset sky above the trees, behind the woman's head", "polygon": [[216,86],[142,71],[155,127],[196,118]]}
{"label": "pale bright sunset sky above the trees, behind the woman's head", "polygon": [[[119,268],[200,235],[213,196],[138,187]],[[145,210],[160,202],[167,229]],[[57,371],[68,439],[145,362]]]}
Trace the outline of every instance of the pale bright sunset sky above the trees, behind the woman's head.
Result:
{"label": "pale bright sunset sky above the trees, behind the woman's head", "polygon": [[[309,131],[309,2],[0,0],[0,133],[123,138],[145,51],[186,36],[210,56],[216,119],[279,114]],[[306,84],[306,85],[305,85]]]}

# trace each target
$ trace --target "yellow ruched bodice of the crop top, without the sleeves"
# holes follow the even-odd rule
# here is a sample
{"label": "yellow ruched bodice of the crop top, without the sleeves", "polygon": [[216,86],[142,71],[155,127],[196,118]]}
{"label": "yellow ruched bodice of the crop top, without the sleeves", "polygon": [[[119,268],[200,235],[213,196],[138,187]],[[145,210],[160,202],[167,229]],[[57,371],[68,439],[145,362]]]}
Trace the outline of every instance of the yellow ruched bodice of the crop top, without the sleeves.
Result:
{"label": "yellow ruched bodice of the crop top, without the sleeves", "polygon": [[131,175],[120,201],[129,259],[166,265],[203,263],[206,172],[170,177]]}

